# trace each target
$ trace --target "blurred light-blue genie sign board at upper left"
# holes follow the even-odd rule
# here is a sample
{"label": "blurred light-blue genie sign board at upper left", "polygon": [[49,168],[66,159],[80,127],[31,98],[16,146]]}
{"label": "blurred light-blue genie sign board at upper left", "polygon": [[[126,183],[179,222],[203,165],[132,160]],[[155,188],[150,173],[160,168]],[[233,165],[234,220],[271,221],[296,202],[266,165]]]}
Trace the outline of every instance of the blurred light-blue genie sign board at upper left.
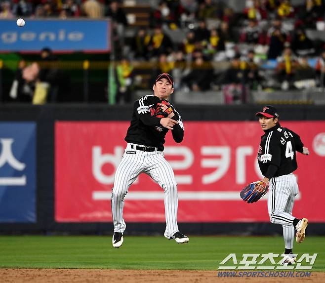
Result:
{"label": "blurred light-blue genie sign board at upper left", "polygon": [[54,52],[108,52],[111,50],[110,20],[25,19],[0,20],[0,52],[39,52],[49,47]]}

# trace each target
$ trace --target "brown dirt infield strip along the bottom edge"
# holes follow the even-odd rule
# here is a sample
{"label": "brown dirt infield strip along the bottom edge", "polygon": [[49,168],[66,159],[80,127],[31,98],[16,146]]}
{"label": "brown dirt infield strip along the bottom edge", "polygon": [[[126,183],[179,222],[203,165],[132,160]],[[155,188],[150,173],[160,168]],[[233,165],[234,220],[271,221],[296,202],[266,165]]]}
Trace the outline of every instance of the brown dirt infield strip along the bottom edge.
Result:
{"label": "brown dirt infield strip along the bottom edge", "polygon": [[[296,274],[296,273],[295,273]],[[300,278],[300,274],[299,278]],[[218,271],[176,271],[176,270],[109,270],[109,269],[0,269],[1,283],[235,283],[235,282],[297,282],[296,277],[285,278],[229,278],[218,277]],[[324,272],[312,272],[302,277],[308,283],[325,282]]]}

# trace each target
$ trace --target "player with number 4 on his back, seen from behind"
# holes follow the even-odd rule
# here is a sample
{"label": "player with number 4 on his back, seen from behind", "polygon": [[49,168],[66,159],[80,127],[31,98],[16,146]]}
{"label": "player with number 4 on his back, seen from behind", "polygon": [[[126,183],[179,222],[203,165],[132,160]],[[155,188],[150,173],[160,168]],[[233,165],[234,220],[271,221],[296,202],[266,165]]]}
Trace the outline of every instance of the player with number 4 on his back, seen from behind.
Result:
{"label": "player with number 4 on his back, seen from behind", "polygon": [[268,210],[272,223],[283,226],[285,257],[283,264],[294,263],[292,254],[294,228],[296,241],[301,243],[305,238],[308,219],[292,216],[294,198],[298,194],[298,185],[293,171],[297,169],[296,151],[309,155],[308,148],[303,146],[299,135],[280,125],[278,111],[271,105],[263,107],[256,113],[264,131],[258,149],[257,159],[264,178],[269,183]]}

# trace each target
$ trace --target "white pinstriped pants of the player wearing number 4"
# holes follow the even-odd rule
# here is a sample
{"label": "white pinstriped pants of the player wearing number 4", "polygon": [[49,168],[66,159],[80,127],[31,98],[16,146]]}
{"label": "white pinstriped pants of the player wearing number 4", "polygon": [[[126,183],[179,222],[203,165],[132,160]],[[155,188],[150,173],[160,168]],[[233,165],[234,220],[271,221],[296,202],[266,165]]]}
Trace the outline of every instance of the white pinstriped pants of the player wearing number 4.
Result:
{"label": "white pinstriped pants of the player wearing number 4", "polygon": [[272,223],[281,224],[285,248],[293,247],[294,227],[292,208],[298,194],[298,184],[292,173],[273,177],[269,183],[268,210]]}

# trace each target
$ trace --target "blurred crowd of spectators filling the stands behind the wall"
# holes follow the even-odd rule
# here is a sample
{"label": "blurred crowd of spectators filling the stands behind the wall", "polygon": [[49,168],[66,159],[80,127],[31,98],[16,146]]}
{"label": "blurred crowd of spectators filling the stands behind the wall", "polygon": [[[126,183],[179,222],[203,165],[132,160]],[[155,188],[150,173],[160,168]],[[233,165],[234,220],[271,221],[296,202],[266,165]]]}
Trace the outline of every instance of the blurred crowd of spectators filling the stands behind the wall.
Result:
{"label": "blurred crowd of spectators filling the stands behind the wall", "polygon": [[118,102],[140,87],[143,71],[134,63],[144,61],[156,66],[148,81],[168,72],[183,91],[324,86],[324,38],[310,37],[324,33],[324,0],[245,0],[241,12],[221,0],[150,1],[147,26],[129,23],[126,2],[1,1],[0,18],[111,17]]}

